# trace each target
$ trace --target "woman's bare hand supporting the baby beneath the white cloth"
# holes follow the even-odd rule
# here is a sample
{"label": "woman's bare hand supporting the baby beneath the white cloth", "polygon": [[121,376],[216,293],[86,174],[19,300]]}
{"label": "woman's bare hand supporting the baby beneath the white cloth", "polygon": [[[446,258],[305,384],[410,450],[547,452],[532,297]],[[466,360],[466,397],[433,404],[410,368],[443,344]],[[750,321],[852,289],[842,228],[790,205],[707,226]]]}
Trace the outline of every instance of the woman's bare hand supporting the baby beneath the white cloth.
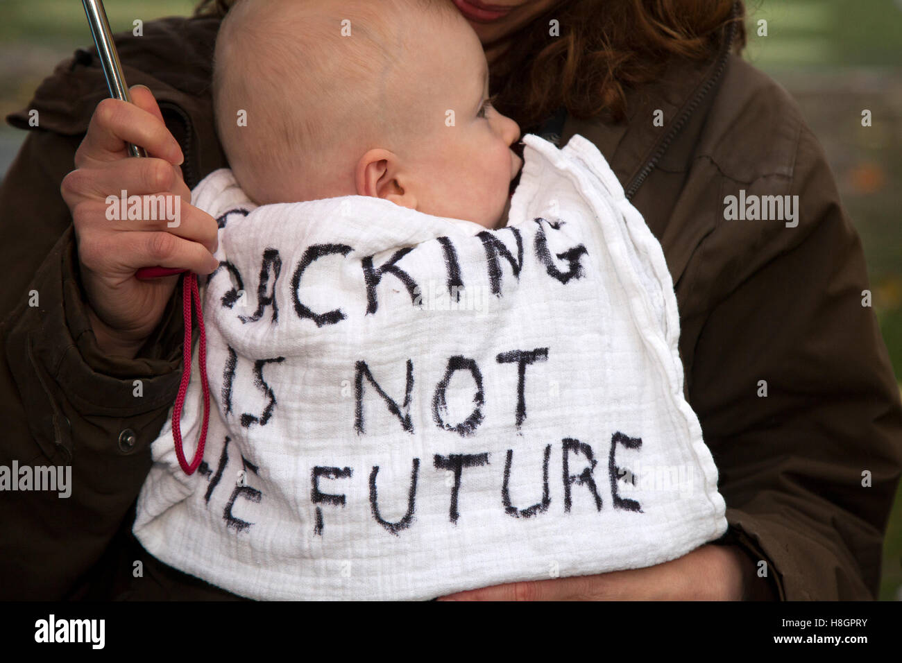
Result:
{"label": "woman's bare hand supporting the baby beneath the white cloth", "polygon": [[741,601],[751,559],[734,546],[708,544],[657,566],[494,585],[439,601]]}

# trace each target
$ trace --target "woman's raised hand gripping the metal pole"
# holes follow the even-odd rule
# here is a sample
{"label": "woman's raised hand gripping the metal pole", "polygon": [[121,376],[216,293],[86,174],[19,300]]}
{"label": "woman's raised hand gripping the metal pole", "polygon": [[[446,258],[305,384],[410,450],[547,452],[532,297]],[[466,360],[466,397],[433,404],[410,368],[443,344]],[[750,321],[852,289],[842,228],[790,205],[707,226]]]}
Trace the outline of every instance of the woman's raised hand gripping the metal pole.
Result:
{"label": "woman's raised hand gripping the metal pole", "polygon": [[[179,143],[163,123],[147,87],[131,89],[132,104],[105,99],[97,105],[75,154],[76,170],[60,187],[72,213],[88,316],[107,355],[133,357],[162,318],[178,276],[139,281],[141,267],[161,265],[207,274],[216,269],[216,221],[190,204],[182,180]],[[148,158],[130,158],[128,145]],[[110,220],[108,196],[164,195],[179,218]],[[119,203],[116,202],[115,205]],[[113,216],[112,214],[110,216]],[[169,227],[169,225],[172,227]]]}

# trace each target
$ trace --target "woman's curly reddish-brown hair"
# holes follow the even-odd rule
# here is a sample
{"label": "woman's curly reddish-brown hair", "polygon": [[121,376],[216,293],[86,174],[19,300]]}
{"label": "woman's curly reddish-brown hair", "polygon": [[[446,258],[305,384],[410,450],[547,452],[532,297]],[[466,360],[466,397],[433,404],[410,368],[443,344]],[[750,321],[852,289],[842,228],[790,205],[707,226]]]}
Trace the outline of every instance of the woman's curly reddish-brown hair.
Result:
{"label": "woman's curly reddish-brown hair", "polygon": [[[201,0],[196,15],[224,16],[235,0]],[[560,35],[549,34],[557,20]],[[736,23],[746,44],[742,0],[565,0],[511,35],[492,63],[494,105],[522,127],[560,106],[575,117],[626,115],[625,90],[659,78],[673,59],[708,60]]]}

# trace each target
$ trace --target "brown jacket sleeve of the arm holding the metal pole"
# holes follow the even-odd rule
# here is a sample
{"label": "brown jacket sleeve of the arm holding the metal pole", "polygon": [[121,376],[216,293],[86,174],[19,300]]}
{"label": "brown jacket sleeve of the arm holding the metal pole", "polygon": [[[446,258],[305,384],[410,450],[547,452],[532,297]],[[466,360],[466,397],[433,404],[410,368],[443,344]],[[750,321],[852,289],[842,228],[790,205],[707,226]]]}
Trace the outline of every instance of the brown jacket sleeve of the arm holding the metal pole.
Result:
{"label": "brown jacket sleeve of the arm holding the metal pole", "polygon": [[4,598],[63,597],[97,562],[143,483],[149,444],[178,389],[175,298],[135,358],[97,345],[60,197],[79,138],[29,134],[0,189],[0,257],[11,267],[0,325],[0,465],[71,468],[69,497],[5,492],[0,500],[0,529],[15,532],[0,538]]}

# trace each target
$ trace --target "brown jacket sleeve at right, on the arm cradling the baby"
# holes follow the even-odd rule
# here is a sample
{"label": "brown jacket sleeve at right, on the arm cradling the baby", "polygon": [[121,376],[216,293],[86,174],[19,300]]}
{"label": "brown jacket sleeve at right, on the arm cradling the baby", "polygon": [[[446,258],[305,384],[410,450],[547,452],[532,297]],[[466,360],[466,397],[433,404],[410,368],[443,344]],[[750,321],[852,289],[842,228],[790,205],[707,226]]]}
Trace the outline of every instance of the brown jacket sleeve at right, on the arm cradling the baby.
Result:
{"label": "brown jacket sleeve at right, on the arm cradling the baby", "polygon": [[[695,347],[691,402],[727,519],[785,598],[870,599],[902,467],[898,386],[862,306],[861,242],[807,127],[787,193],[798,226],[769,222],[734,263],[747,276],[722,276]],[[736,241],[715,232],[702,257],[735,253]]]}

